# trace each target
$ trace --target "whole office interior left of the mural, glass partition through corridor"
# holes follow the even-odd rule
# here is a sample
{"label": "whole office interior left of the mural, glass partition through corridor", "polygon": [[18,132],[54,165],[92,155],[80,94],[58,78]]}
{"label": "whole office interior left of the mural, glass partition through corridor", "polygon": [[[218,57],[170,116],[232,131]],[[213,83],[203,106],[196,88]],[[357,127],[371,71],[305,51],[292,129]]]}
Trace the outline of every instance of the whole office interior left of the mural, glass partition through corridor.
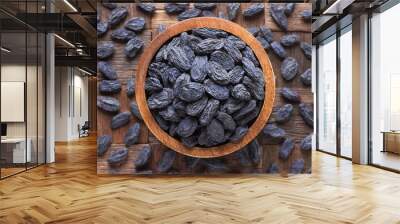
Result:
{"label": "whole office interior left of the mural, glass partition through corridor", "polygon": [[[93,135],[97,94],[93,41],[83,35],[87,31],[79,23],[57,14],[76,8],[36,0],[2,1],[0,7],[3,179],[54,161],[55,143]],[[88,2],[78,7],[87,11],[86,18],[95,17]],[[43,17],[50,11],[56,15],[51,25]],[[48,32],[55,34],[50,38]],[[49,123],[54,126],[46,130]]]}

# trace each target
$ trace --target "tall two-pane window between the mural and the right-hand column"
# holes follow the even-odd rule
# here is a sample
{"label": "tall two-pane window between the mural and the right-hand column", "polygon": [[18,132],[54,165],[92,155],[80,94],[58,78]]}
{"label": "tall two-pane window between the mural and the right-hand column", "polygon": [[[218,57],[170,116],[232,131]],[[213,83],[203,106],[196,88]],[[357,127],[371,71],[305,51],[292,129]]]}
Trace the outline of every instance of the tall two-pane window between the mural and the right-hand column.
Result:
{"label": "tall two-pane window between the mural and the right-hand column", "polygon": [[351,25],[317,45],[317,150],[352,157]]}

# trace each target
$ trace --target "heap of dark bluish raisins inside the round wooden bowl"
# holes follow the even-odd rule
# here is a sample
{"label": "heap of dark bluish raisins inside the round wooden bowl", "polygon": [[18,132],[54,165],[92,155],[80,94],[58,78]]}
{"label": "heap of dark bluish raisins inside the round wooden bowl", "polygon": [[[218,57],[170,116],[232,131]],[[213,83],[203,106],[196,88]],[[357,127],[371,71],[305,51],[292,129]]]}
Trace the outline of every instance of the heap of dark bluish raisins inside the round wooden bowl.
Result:
{"label": "heap of dark bluish raisins inside the round wooden bowl", "polygon": [[149,65],[147,105],[187,147],[239,141],[257,118],[264,74],[253,51],[225,31],[196,28],[172,38]]}

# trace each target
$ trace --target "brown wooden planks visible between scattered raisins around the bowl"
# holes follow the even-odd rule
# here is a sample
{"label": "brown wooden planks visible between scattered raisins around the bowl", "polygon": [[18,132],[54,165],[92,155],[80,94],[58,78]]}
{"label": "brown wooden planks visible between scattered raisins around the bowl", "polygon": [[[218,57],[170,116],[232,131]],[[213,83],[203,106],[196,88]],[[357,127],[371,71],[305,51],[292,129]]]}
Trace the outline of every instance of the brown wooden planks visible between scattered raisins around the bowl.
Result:
{"label": "brown wooden planks visible between scattered raisins around the bowl", "polygon": [[[243,11],[245,8],[250,6],[252,3],[241,3],[241,11]],[[129,15],[128,17],[133,17],[133,16],[140,16],[144,17],[146,20],[146,27],[145,30],[142,33],[139,33],[139,37],[145,42],[145,47],[144,50],[152,47],[150,45],[151,40],[153,40],[157,35],[158,35],[158,27],[160,24],[166,25],[167,27],[173,26],[174,24],[177,23],[176,16],[175,15],[168,15],[165,10],[164,10],[164,4],[163,3],[155,3],[156,6],[156,11],[152,16],[146,15],[143,12],[137,10],[136,5],[134,3],[119,3],[121,6],[125,6],[128,8]],[[192,4],[190,4],[192,7]],[[212,12],[217,15],[218,12],[222,11],[226,15],[226,3],[218,3],[216,9],[212,10]],[[245,19],[241,14],[233,21],[240,26],[244,28],[249,28],[253,26],[261,26],[265,25],[273,30],[273,38],[276,41],[279,41],[280,38],[285,34],[280,30],[272,18],[270,17],[269,14],[269,3],[265,3],[265,12],[255,18],[252,19]],[[100,15],[101,15],[101,20],[106,20],[109,16],[110,11],[101,7],[99,5],[98,7],[100,10]],[[305,23],[300,16],[300,13],[305,10],[305,9],[311,9],[311,4],[309,3],[297,3],[295,11],[293,14],[289,17],[289,31],[288,33],[296,33],[300,36],[301,41],[303,42],[308,42],[311,43],[311,33],[310,33],[310,24]],[[123,23],[116,27],[116,28],[121,28],[123,27]],[[116,29],[115,28],[115,29]],[[98,41],[110,41],[110,31],[102,38],[99,38]],[[136,57],[133,60],[128,60],[126,59],[125,55],[123,54],[123,47],[124,44],[120,43],[115,43],[116,45],[116,51],[114,53],[113,58],[110,60],[112,65],[116,68],[118,72],[118,79],[121,80],[123,84],[126,83],[126,80],[130,77],[136,77],[138,74],[138,65],[139,63],[139,57]],[[261,49],[260,49],[261,50]],[[311,92],[310,87],[305,87],[301,81],[300,81],[300,74],[303,73],[307,68],[311,67],[311,60],[307,59],[303,52],[301,51],[300,47],[293,46],[290,48],[286,48],[287,54],[290,57],[294,57],[298,63],[299,63],[299,73],[298,75],[291,81],[287,82],[285,81],[280,74],[280,66],[282,63],[282,60],[278,58],[271,50],[267,50],[266,53],[269,56],[269,60],[272,65],[272,69],[275,73],[275,102],[273,105],[273,111],[276,111],[276,109],[279,106],[282,106],[288,102],[286,102],[280,95],[279,91],[283,87],[289,87],[294,90],[296,90],[300,95],[302,102],[308,103],[310,105],[313,104],[313,93]],[[101,77],[99,78],[99,81],[101,80]],[[123,85],[123,90],[120,94],[117,94],[116,97],[120,99],[121,105],[122,105],[122,110],[128,110],[128,105],[132,101],[136,101],[135,97],[133,98],[128,98],[126,97],[126,92],[125,92],[125,85]],[[283,175],[287,175],[289,173],[289,168],[292,165],[292,162],[297,160],[297,159],[302,159],[305,162],[305,167],[303,172],[307,173],[310,172],[311,170],[311,156],[310,153],[308,152],[302,152],[299,149],[298,144],[300,141],[307,135],[311,134],[313,132],[313,129],[308,127],[303,119],[301,118],[299,111],[298,111],[298,105],[293,104],[294,107],[294,112],[291,117],[291,120],[288,123],[285,123],[283,125],[279,125],[280,128],[284,129],[287,133],[287,135],[291,138],[293,138],[296,142],[296,147],[291,153],[289,159],[287,161],[280,160],[278,158],[278,152],[280,145],[271,145],[267,141],[265,141],[265,138],[262,134],[259,134],[257,136],[258,142],[262,145],[263,150],[262,150],[262,161],[260,163],[256,164],[254,167],[248,168],[248,167],[235,167],[237,164],[237,159],[233,154],[227,155],[222,157],[222,160],[225,161],[225,163],[231,168],[231,172],[233,173],[265,173],[266,169],[270,167],[272,164],[276,164],[279,167],[279,171]],[[138,122],[135,119],[132,119],[130,124],[121,130],[118,131],[111,131],[109,128],[110,125],[110,119],[111,116],[109,114],[103,113],[102,111],[98,111],[98,134],[102,135],[105,133],[112,134],[113,135],[113,142],[114,145],[112,147],[112,150],[115,149],[118,145],[121,145],[123,142],[123,135],[126,132],[126,129],[133,125],[135,122]],[[149,144],[152,147],[153,155],[151,157],[151,162],[149,164],[149,170],[155,169],[157,167],[158,159],[161,157],[162,153],[167,150],[167,147],[163,146],[159,139],[157,139],[156,136],[154,136],[151,131],[146,127],[146,125],[142,125],[142,130],[141,130],[141,137],[139,144]],[[104,157],[99,157],[99,174],[109,174],[109,173],[118,173],[118,174],[139,174],[135,171],[132,163],[136,159],[136,155],[138,154],[138,151],[141,149],[141,147],[135,146],[131,147],[129,150],[132,150],[133,152],[129,154],[126,169],[118,169],[118,170],[109,170],[110,168],[105,165],[106,163],[106,158],[107,156]],[[109,153],[109,152],[108,152]],[[108,154],[106,154],[108,155]],[[183,155],[177,155],[175,162],[173,164],[173,168],[169,171],[171,174],[203,174],[207,173],[207,171],[203,169],[198,169],[195,171],[189,171],[186,169],[186,164],[184,162],[185,156]],[[148,172],[146,172],[148,173]],[[152,171],[151,173],[156,173],[155,171]]]}

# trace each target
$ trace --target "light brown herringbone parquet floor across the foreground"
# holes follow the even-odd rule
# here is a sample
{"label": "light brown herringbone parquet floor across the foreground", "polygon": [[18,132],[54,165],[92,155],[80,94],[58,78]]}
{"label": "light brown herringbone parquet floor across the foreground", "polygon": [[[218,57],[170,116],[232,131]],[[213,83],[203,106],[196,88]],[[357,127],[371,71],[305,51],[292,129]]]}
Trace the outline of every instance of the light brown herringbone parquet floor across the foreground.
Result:
{"label": "light brown herringbone parquet floor across the foreground", "polygon": [[400,223],[400,175],[313,153],[313,173],[96,175],[95,139],[0,181],[0,223]]}

